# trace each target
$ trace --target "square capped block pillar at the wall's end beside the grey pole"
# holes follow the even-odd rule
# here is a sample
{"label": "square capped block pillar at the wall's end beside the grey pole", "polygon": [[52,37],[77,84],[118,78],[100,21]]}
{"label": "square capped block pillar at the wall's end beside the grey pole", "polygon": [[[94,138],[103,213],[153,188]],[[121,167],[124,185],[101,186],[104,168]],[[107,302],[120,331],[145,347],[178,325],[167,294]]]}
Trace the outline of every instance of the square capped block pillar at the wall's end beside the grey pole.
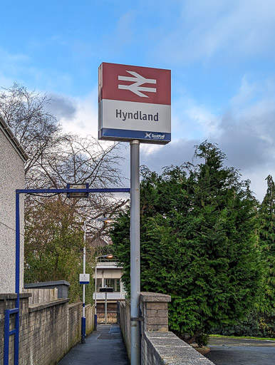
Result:
{"label": "square capped block pillar at the wall's end beside the grey pole", "polygon": [[141,292],[141,329],[144,331],[168,331],[168,302],[170,295]]}

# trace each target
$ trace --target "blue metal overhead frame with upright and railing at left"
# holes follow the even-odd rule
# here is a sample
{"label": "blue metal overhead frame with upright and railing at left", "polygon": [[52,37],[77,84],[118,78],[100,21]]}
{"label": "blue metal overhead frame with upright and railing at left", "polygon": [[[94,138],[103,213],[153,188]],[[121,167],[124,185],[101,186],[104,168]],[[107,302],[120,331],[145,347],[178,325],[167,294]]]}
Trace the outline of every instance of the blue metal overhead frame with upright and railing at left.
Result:
{"label": "blue metal overhead frame with upright and railing at left", "polygon": [[[16,269],[15,269],[15,292],[16,307],[5,310],[5,333],[4,333],[4,365],[9,365],[9,336],[14,334],[14,365],[19,365],[19,289],[20,289],[20,194],[62,194],[70,192],[130,192],[128,187],[114,187],[104,189],[17,189],[16,190]],[[9,317],[16,314],[15,329],[9,330]],[[82,324],[83,326],[84,324]]]}

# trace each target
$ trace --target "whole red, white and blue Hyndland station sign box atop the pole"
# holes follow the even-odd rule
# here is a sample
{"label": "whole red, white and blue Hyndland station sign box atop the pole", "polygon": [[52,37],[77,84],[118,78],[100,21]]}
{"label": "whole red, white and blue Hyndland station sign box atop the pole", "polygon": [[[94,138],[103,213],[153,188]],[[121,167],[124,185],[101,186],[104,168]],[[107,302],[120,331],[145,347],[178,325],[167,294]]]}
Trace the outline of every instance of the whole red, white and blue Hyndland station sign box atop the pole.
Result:
{"label": "whole red, white and blue Hyndland station sign box atop the pole", "polygon": [[166,144],[171,140],[171,71],[101,63],[98,139]]}

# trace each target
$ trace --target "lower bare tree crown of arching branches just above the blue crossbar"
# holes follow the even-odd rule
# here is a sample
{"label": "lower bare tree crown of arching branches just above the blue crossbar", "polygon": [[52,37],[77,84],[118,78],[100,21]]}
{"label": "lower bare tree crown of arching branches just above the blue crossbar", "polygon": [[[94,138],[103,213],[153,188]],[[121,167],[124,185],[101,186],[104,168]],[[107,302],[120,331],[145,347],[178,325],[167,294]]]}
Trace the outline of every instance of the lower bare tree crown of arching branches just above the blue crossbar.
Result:
{"label": "lower bare tree crown of arching branches just above the blue crossbar", "polygon": [[40,171],[53,187],[66,183],[88,183],[92,187],[118,186],[122,158],[120,145],[113,143],[103,148],[91,135],[81,138],[66,135],[50,153],[40,156]]}

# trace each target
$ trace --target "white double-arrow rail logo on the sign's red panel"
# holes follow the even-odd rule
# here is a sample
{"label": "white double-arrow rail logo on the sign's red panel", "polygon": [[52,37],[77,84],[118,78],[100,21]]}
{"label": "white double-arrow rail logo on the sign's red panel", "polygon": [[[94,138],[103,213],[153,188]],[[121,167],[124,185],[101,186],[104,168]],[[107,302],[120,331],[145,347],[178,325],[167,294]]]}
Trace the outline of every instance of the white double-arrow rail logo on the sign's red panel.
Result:
{"label": "white double-arrow rail logo on the sign's red panel", "polygon": [[126,72],[130,73],[130,75],[132,76],[118,76],[118,80],[133,81],[133,83],[131,83],[130,85],[118,84],[118,88],[132,91],[132,93],[135,93],[137,96],[140,96],[140,98],[149,98],[149,96],[145,95],[141,91],[143,92],[146,91],[147,93],[157,92],[156,88],[148,88],[142,86],[145,83],[157,83],[157,80],[154,80],[153,78],[145,78],[135,71],[126,71]]}

